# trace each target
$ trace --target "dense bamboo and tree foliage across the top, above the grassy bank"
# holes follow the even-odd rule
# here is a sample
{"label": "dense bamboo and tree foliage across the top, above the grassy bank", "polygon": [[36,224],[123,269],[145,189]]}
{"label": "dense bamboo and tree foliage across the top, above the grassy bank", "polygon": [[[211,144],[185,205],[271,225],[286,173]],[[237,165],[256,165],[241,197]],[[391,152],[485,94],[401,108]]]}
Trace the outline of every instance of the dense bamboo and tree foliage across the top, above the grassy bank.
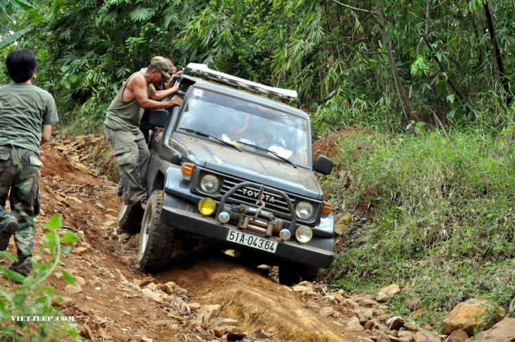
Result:
{"label": "dense bamboo and tree foliage across the top, above the grassy bank", "polygon": [[64,119],[98,122],[122,80],[157,54],[176,65],[204,62],[297,89],[304,108],[316,113],[317,133],[352,124],[399,130],[411,120],[485,122],[495,130],[513,115],[515,0],[1,0],[0,6],[1,54],[34,49],[38,84],[56,95]]}

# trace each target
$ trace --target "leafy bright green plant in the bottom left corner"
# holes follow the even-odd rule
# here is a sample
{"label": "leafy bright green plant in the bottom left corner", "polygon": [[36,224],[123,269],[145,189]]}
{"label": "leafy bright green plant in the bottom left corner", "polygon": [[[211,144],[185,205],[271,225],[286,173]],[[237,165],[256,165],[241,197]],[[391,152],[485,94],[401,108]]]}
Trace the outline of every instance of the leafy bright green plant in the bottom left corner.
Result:
{"label": "leafy bright green plant in the bottom left corner", "polygon": [[[54,297],[52,286],[45,286],[43,282],[51,275],[59,265],[60,253],[69,253],[70,247],[61,249],[60,242],[75,242],[79,240],[76,234],[67,231],[62,238],[57,229],[62,227],[60,216],[54,216],[46,225],[49,233],[45,235],[45,242],[41,246],[39,255],[44,249],[49,249],[52,255],[52,264],[38,264],[32,260],[34,265],[30,275],[23,278],[18,273],[10,271],[0,265],[0,275],[9,280],[10,286],[0,284],[0,328],[1,341],[58,341],[63,335],[77,338],[78,333],[74,323],[65,320],[62,312],[52,307],[52,301],[62,301],[61,297]],[[10,253],[0,251],[0,258],[16,261]],[[69,284],[75,284],[74,278],[62,270],[63,278]],[[20,286],[14,282],[21,283]],[[52,319],[48,321],[22,321],[16,317],[37,317]],[[14,318],[14,320],[13,320]],[[12,321],[11,324],[7,323]]]}

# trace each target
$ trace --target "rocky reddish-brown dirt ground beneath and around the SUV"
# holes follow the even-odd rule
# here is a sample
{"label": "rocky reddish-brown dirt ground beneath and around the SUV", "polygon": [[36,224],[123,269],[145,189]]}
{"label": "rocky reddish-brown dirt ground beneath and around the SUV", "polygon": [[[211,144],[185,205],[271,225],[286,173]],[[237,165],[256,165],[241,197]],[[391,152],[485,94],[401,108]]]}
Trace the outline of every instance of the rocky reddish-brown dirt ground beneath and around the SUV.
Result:
{"label": "rocky reddish-brown dirt ground beneath and around the SUV", "polygon": [[[116,233],[116,184],[93,163],[107,148],[102,137],[67,137],[44,146],[41,157],[43,210],[36,218],[35,249],[43,242],[42,223],[55,214],[62,214],[60,232],[81,237],[61,260],[78,285],[68,285],[60,272],[47,280],[65,299],[55,305],[76,317],[81,340],[459,342],[474,325],[490,328],[501,319],[503,312],[486,302],[464,303],[444,321],[446,334],[437,334],[432,326],[410,321],[420,310],[416,296],[407,303],[412,317],[394,317],[384,304],[409,289],[392,284],[376,295],[358,296],[319,283],[282,286],[275,268],[248,266],[231,253],[192,251],[167,271],[141,273],[137,236]],[[9,251],[15,253],[14,243]],[[38,258],[48,262],[50,255]],[[489,320],[478,320],[478,310]],[[504,319],[478,341],[515,341],[514,322]],[[506,339],[499,339],[503,334]]]}

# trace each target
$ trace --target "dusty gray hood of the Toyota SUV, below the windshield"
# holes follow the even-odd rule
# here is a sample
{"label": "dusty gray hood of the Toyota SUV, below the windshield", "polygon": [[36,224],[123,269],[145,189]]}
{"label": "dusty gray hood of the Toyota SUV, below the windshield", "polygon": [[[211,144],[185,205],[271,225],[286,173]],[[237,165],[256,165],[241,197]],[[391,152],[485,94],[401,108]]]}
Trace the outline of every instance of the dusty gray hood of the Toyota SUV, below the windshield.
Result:
{"label": "dusty gray hood of the Toyota SUV, below the windshield", "polygon": [[293,168],[280,159],[248,150],[239,152],[216,141],[187,136],[175,136],[174,140],[185,151],[185,156],[198,166],[307,198],[321,200],[323,197],[317,179],[307,169]]}

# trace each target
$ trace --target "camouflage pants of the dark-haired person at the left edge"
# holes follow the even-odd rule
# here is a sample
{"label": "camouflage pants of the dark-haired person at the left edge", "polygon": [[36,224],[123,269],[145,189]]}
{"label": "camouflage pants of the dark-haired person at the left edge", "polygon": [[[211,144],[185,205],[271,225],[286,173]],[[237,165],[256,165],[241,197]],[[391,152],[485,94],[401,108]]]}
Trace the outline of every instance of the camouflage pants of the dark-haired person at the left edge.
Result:
{"label": "camouflage pants of the dark-haired person at the left edge", "polygon": [[34,151],[0,146],[0,210],[5,210],[9,196],[12,215],[18,220],[14,242],[19,260],[32,256],[36,236],[34,204],[39,190],[39,166],[42,165]]}

